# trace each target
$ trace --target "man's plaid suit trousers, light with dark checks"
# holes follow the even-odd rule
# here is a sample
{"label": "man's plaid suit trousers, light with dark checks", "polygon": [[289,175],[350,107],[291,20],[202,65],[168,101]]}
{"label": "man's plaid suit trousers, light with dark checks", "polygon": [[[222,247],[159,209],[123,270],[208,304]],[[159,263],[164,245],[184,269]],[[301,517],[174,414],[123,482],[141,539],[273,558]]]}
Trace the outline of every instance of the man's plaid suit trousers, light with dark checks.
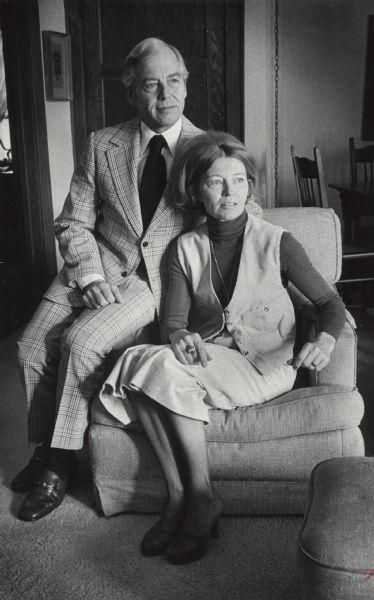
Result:
{"label": "man's plaid suit trousers, light with dark checks", "polygon": [[119,286],[123,302],[99,309],[43,299],[18,341],[29,441],[84,445],[90,401],[123,350],[152,337],[155,303],[137,275]]}

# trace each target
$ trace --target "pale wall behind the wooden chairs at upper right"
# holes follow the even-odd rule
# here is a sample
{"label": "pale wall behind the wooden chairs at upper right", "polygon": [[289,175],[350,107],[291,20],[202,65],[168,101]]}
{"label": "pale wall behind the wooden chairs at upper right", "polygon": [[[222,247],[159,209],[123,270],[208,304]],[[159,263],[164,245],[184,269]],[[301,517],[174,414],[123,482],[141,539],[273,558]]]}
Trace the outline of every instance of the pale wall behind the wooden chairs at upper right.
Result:
{"label": "pale wall behind the wooden chairs at upper right", "polygon": [[[327,182],[349,179],[348,138],[360,142],[367,17],[374,13],[374,0],[280,0],[279,10],[279,201],[292,205],[297,202],[292,143],[299,154],[311,158],[313,146],[320,146]],[[260,174],[266,172],[264,204],[269,205],[274,139],[272,0],[246,0],[245,24],[245,136],[247,145],[255,146],[255,156],[267,149],[259,168]],[[329,202],[339,209],[333,190]]]}

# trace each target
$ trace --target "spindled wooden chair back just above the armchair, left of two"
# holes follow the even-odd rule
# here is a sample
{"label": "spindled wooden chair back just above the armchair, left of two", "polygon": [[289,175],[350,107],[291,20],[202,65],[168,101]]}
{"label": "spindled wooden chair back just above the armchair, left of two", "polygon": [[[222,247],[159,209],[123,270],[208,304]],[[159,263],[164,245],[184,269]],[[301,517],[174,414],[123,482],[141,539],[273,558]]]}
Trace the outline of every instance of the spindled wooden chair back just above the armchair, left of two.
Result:
{"label": "spindled wooden chair back just above the armchair, left of two", "polygon": [[313,153],[314,160],[305,156],[296,156],[295,146],[291,146],[299,203],[300,206],[328,208],[325,176],[318,146],[313,149]]}

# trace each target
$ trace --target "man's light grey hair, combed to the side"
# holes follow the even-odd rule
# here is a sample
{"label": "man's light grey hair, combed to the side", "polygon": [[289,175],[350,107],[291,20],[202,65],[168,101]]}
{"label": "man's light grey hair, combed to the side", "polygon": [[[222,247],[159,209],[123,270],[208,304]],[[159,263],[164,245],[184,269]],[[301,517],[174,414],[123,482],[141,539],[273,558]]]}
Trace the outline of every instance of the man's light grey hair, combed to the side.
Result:
{"label": "man's light grey hair, combed to the side", "polygon": [[159,38],[147,38],[137,44],[127,55],[125,59],[125,63],[122,71],[122,82],[124,83],[126,93],[131,94],[135,77],[136,77],[136,69],[138,68],[141,61],[146,56],[151,56],[152,54],[157,53],[160,48],[168,48],[172,52],[174,52],[176,59],[181,67],[181,75],[185,81],[188,78],[188,71],[183,60],[183,57],[179,50],[170,44],[167,44],[163,40]]}

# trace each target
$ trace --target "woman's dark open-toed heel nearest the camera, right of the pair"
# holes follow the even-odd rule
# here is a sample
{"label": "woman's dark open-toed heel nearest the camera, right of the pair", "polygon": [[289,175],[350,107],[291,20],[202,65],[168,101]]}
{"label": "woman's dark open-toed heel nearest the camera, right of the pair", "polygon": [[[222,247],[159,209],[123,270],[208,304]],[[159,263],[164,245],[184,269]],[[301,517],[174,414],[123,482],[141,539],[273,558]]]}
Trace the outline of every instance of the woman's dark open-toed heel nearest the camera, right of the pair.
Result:
{"label": "woman's dark open-toed heel nearest the camera, right of the pair", "polygon": [[166,551],[169,563],[184,565],[203,558],[207,553],[209,538],[217,538],[219,535],[220,517],[221,513],[215,518],[209,533],[205,535],[191,535],[183,531],[178,533]]}

